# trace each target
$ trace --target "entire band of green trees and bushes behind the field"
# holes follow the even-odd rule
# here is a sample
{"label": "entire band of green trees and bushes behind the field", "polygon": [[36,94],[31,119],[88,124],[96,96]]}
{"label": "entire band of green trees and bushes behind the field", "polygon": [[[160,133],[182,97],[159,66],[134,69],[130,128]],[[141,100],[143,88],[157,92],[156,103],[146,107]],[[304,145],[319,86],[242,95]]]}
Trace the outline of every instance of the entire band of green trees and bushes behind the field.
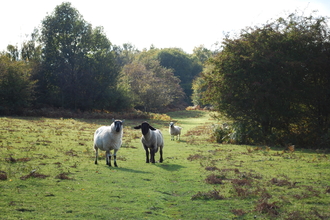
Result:
{"label": "entire band of green trees and bushes behind the field", "polygon": [[0,53],[0,114],[43,108],[168,112],[212,106],[217,141],[330,144],[330,30],[295,13],[227,36],[210,51],[113,45],[62,3],[21,47]]}

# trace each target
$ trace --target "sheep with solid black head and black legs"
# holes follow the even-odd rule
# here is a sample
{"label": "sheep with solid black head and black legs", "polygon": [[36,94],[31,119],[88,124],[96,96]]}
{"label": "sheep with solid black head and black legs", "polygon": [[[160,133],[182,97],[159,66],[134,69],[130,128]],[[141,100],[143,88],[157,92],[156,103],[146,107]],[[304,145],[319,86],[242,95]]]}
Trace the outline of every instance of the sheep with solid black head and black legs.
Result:
{"label": "sheep with solid black head and black legs", "polygon": [[143,122],[141,125],[135,126],[134,129],[141,129],[142,137],[141,142],[146,151],[146,163],[149,163],[149,151],[150,149],[150,161],[155,163],[155,154],[159,149],[160,159],[159,162],[163,162],[163,147],[164,140],[160,130],[153,128],[147,122]]}

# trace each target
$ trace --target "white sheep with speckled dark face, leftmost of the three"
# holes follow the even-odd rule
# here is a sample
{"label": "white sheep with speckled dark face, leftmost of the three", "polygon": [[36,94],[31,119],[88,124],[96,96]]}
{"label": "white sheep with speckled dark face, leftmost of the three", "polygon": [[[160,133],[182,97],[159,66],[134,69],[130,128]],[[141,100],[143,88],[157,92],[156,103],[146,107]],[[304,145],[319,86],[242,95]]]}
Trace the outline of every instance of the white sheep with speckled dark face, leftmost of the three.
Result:
{"label": "white sheep with speckled dark face, leftmost of the three", "polygon": [[112,119],[110,126],[102,126],[94,133],[95,164],[97,164],[98,149],[106,152],[106,164],[111,166],[111,150],[114,150],[114,165],[117,167],[117,151],[121,147],[123,138],[123,122],[125,120]]}

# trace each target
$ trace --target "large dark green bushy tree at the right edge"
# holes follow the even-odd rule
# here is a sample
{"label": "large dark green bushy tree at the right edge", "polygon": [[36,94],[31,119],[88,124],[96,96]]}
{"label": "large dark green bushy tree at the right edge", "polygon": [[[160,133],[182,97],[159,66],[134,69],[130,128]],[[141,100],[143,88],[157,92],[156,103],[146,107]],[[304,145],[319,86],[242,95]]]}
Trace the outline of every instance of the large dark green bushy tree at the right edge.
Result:
{"label": "large dark green bushy tree at the right edge", "polygon": [[224,40],[194,83],[196,99],[233,121],[219,141],[329,147],[328,22],[291,14]]}

